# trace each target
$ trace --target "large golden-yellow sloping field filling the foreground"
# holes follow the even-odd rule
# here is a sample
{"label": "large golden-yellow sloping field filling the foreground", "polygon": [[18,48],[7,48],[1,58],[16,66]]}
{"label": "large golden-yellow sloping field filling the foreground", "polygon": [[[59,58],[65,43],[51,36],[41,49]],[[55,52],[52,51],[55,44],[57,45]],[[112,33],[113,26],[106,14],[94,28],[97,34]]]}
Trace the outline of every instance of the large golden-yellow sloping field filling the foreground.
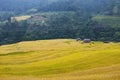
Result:
{"label": "large golden-yellow sloping field filling the foreground", "polygon": [[56,39],[0,46],[0,80],[120,80],[120,43]]}

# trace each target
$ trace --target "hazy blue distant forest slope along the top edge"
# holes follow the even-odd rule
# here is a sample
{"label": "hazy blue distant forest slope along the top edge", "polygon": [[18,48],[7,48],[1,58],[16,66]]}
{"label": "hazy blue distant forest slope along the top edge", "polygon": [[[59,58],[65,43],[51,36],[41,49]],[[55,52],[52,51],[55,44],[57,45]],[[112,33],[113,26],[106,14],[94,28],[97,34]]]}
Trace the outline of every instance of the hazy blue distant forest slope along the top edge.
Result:
{"label": "hazy blue distant forest slope along the top edge", "polygon": [[15,14],[36,12],[85,10],[93,14],[120,15],[120,0],[1,0],[0,11]]}

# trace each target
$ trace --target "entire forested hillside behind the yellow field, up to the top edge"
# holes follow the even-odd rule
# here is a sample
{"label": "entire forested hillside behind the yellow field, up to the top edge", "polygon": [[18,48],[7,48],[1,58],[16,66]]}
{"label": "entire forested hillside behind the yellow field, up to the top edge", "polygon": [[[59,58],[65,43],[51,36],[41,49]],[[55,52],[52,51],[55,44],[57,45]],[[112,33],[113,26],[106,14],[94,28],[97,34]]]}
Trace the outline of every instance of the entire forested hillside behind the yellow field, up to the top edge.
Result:
{"label": "entire forested hillside behind the yellow field, up to the top edge", "polygon": [[[77,37],[120,41],[120,0],[0,0],[0,5],[0,44]],[[22,15],[31,17],[13,18]]]}

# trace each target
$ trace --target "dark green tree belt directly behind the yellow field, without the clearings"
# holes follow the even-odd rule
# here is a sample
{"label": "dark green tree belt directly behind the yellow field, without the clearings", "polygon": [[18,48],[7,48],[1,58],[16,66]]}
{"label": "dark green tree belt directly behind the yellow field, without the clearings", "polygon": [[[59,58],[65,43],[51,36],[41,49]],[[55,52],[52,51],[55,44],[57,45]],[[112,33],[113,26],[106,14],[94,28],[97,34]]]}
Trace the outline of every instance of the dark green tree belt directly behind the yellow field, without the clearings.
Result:
{"label": "dark green tree belt directly behind the yellow field, without the clearings", "polygon": [[54,15],[52,19],[48,18],[44,24],[37,25],[31,25],[27,20],[11,22],[8,19],[7,23],[0,27],[0,44],[24,40],[78,37],[99,41],[120,41],[120,27],[103,25],[91,20],[91,16],[86,14],[86,17],[85,14],[81,15],[78,12],[60,14]]}

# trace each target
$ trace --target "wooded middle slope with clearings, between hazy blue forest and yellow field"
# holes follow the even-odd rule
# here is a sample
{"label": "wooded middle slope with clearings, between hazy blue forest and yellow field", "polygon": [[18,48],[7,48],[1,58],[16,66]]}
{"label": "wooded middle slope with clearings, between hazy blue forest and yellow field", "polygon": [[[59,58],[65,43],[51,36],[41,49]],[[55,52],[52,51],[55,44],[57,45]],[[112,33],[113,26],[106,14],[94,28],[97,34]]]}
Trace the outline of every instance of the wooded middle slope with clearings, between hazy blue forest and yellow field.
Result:
{"label": "wooded middle slope with clearings, between hazy blue forest and yellow field", "polygon": [[44,12],[8,19],[0,27],[0,44],[78,37],[96,41],[120,41],[119,17],[91,17],[80,13]]}

